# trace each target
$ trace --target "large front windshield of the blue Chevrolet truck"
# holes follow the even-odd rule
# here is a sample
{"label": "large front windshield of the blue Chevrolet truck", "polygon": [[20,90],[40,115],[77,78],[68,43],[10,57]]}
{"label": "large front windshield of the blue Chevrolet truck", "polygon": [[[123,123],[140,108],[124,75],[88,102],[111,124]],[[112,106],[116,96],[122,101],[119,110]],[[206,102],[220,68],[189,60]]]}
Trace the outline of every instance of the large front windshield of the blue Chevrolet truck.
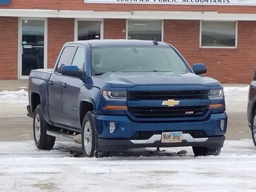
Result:
{"label": "large front windshield of the blue Chevrolet truck", "polygon": [[173,48],[108,47],[92,50],[94,74],[104,72],[190,72]]}

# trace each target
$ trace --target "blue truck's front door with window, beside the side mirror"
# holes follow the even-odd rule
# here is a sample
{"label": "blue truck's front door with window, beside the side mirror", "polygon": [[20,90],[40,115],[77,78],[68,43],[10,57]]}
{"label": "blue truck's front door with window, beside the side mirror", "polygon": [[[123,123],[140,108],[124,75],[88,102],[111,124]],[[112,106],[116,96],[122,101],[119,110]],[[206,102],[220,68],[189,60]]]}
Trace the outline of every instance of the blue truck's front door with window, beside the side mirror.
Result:
{"label": "blue truck's front door with window, beside the side mirror", "polygon": [[[84,70],[85,48],[82,45],[77,46],[71,64],[78,66],[80,70]],[[80,88],[84,82],[80,78],[66,76],[66,88],[63,88],[63,108],[62,115],[64,123],[76,129],[80,129],[79,117],[79,96]]]}

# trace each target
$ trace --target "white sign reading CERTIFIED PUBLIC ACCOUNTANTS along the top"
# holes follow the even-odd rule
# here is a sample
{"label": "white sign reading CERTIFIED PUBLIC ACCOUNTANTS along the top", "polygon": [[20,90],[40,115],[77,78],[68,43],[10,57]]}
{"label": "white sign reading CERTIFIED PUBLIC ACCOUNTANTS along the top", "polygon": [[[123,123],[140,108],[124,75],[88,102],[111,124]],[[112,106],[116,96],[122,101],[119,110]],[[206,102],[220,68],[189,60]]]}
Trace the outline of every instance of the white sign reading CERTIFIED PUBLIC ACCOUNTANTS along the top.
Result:
{"label": "white sign reading CERTIFIED PUBLIC ACCOUNTANTS along the top", "polygon": [[86,3],[256,6],[256,0],[84,0]]}

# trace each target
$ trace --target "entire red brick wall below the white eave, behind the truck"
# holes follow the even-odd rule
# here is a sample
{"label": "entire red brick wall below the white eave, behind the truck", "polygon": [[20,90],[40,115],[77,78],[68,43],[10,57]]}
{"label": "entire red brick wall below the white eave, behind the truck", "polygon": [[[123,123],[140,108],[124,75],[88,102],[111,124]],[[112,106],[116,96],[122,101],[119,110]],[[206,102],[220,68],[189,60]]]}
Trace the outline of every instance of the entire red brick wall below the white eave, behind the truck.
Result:
{"label": "entire red brick wall below the white eave, behind the truck", "polygon": [[[0,17],[0,79],[17,79],[18,18]],[[104,38],[125,38],[126,20],[105,19]],[[207,76],[222,83],[249,83],[256,68],[256,21],[238,22],[237,49],[199,47],[200,21],[164,20],[164,41],[173,44],[189,64],[205,63]],[[65,42],[74,40],[74,19],[48,18],[48,68]]]}

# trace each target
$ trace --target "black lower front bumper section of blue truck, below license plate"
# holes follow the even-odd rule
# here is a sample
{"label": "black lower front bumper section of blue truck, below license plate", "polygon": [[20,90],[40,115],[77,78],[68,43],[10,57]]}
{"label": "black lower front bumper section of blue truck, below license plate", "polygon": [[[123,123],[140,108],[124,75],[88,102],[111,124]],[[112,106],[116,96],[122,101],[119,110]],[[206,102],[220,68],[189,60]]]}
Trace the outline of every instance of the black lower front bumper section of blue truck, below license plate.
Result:
{"label": "black lower front bumper section of blue truck, below license plate", "polygon": [[[185,134],[184,134],[185,135]],[[156,135],[154,135],[156,136]],[[152,136],[153,137],[153,136]],[[183,136],[184,137],[184,136]],[[142,140],[134,143],[134,140],[114,140],[114,139],[98,139],[99,150],[106,151],[123,151],[129,148],[146,148],[146,147],[184,147],[184,146],[198,146],[206,148],[221,148],[225,140],[225,136],[210,137],[210,138],[200,138],[203,140],[182,140],[180,143],[162,143],[161,135],[158,140],[153,143],[143,143]]]}

